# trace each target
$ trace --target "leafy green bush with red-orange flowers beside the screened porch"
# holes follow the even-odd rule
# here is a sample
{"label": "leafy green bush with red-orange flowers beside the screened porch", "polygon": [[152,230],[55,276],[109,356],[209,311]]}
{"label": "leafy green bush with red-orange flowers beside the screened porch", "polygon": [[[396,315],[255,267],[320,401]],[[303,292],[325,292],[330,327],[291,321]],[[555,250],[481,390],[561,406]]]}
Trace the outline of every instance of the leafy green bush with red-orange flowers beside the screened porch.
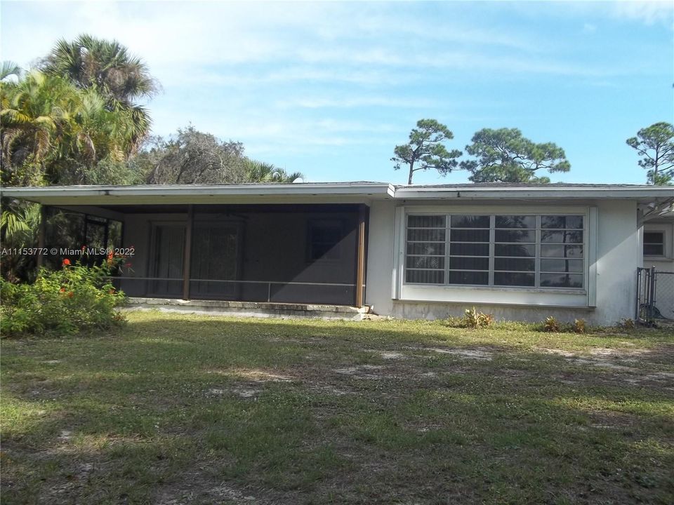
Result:
{"label": "leafy green bush with red-orange flowers beside the screened porch", "polygon": [[64,260],[60,270],[41,269],[32,284],[0,279],[2,337],[72,335],[124,321],[115,309],[126,297],[109,278],[115,260],[94,267]]}

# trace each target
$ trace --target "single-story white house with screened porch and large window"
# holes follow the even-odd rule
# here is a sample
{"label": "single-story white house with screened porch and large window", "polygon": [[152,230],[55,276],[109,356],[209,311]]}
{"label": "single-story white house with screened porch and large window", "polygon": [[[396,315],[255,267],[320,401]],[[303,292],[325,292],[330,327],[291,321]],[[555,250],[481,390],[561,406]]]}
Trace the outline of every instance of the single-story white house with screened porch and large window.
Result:
{"label": "single-story white house with screened porch and large window", "polygon": [[635,315],[637,267],[656,257],[673,265],[673,187],[340,182],[1,194],[43,205],[42,247],[55,245],[49,229],[59,226],[73,237],[62,247],[132,248],[116,282],[134,302],[177,308],[442,318],[477,307],[496,318],[611,324]]}

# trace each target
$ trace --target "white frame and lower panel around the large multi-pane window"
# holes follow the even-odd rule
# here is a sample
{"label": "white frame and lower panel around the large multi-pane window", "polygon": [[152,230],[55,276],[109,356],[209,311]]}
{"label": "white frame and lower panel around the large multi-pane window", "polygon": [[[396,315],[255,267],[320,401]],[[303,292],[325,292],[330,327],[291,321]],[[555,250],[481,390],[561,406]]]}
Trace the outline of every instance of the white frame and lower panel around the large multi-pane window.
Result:
{"label": "white frame and lower panel around the large multi-pane window", "polygon": [[[581,215],[583,216],[583,288],[495,286],[463,284],[407,283],[407,216],[416,215]],[[391,284],[393,300],[413,302],[456,302],[547,305],[555,307],[595,307],[597,302],[597,206],[535,205],[506,206],[494,203],[476,205],[408,205],[395,208],[394,270]],[[491,226],[490,226],[491,229]],[[490,242],[491,243],[491,242]],[[491,245],[490,245],[491,247]],[[537,245],[537,248],[540,245]],[[540,253],[538,253],[540,254]],[[493,257],[490,254],[490,258]]]}

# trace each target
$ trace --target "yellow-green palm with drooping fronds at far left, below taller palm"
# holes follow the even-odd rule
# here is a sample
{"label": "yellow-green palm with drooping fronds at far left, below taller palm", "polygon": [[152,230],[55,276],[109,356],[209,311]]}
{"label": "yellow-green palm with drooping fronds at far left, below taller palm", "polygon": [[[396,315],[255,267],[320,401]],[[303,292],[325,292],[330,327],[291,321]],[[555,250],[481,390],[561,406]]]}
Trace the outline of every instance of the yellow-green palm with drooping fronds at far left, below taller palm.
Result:
{"label": "yellow-green palm with drooping fronds at far left, below taller palm", "polygon": [[133,148],[132,112],[111,111],[91,88],[34,70],[1,90],[5,184],[84,184],[95,163],[122,161]]}

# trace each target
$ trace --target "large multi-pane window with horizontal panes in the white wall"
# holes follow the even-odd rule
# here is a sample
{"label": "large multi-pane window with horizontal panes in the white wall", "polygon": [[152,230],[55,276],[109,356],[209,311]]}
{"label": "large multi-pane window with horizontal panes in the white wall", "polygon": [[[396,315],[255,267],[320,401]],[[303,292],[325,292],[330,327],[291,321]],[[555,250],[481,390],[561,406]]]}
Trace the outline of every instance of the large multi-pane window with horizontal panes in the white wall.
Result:
{"label": "large multi-pane window with horizontal panes in the white wall", "polygon": [[408,284],[581,289],[583,215],[407,215]]}

